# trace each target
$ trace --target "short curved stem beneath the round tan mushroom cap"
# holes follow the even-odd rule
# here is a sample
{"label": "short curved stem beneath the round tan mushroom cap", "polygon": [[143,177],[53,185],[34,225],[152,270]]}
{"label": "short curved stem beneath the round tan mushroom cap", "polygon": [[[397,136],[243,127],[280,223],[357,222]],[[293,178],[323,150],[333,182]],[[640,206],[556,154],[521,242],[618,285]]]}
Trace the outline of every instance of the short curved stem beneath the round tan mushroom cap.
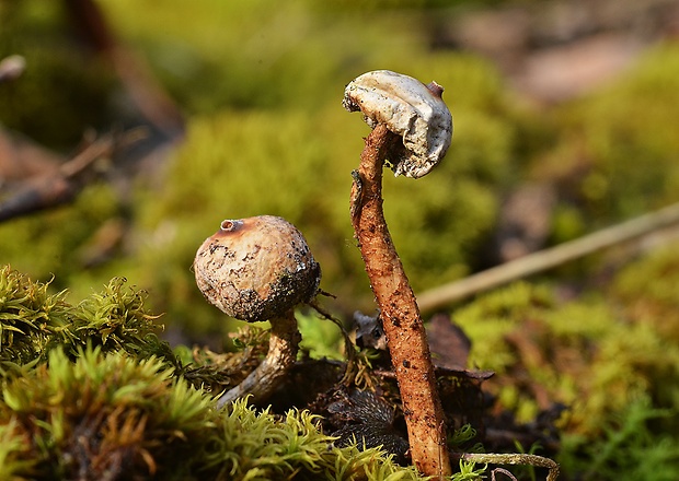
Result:
{"label": "short curved stem beneath the round tan mushroom cap", "polygon": [[276,390],[297,361],[301,335],[297,328],[295,310],[290,309],[269,322],[272,328],[266,357],[241,384],[219,398],[218,409],[246,395],[252,395],[257,401],[265,400]]}

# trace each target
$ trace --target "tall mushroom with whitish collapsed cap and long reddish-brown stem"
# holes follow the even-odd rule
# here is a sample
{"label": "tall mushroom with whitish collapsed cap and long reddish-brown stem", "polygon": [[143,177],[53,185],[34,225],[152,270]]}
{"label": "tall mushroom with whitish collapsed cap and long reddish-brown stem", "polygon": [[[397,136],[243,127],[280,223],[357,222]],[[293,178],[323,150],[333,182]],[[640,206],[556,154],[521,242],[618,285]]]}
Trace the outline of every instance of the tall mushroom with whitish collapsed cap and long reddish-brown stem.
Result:
{"label": "tall mushroom with whitish collapsed cap and long reddish-brown stem", "polygon": [[419,309],[382,211],[382,167],[389,162],[395,175],[419,178],[444,157],[452,117],[442,91],[378,70],[352,81],[343,101],[373,128],[352,173],[352,223],[387,335],[413,464],[438,478],[451,473],[445,418]]}

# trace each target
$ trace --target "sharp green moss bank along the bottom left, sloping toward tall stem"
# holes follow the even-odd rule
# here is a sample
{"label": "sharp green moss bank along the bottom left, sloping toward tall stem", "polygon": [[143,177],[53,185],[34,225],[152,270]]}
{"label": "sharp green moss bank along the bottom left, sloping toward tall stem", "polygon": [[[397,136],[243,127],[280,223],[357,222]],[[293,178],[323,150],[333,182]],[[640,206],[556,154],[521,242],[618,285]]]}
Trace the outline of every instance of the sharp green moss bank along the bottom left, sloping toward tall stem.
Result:
{"label": "sharp green moss bank along the bottom left, sloping toward tall stem", "polygon": [[9,383],[0,403],[3,471],[32,479],[419,479],[378,449],[333,447],[318,418],[217,412],[161,360],[60,350]]}

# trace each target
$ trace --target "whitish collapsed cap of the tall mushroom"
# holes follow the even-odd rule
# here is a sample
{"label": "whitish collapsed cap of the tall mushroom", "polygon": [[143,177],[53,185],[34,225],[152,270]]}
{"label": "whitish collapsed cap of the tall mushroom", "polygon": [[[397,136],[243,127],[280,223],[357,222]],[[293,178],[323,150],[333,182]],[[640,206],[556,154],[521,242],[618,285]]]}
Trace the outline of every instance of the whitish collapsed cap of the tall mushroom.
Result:
{"label": "whitish collapsed cap of the tall mushroom", "polygon": [[384,124],[403,138],[402,159],[392,160],[395,175],[419,178],[446,155],[452,139],[452,116],[436,82],[421,81],[390,70],[375,70],[354,79],[344,91],[344,107],[360,110],[373,127]]}

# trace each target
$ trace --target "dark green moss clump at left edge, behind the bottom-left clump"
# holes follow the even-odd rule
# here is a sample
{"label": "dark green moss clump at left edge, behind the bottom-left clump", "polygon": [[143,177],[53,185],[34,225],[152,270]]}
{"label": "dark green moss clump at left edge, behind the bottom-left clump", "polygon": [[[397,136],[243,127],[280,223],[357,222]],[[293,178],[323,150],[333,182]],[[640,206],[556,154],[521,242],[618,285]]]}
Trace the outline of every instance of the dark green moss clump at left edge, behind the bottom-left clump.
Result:
{"label": "dark green moss clump at left edge, behind the bottom-left clump", "polygon": [[77,355],[85,345],[102,351],[124,351],[140,359],[175,357],[161,341],[153,324],[158,316],[143,307],[145,294],[114,278],[102,293],[78,305],[66,302],[66,292],[48,294],[48,284],[33,282],[9,266],[0,270],[0,367],[4,376],[32,368],[55,349]]}

